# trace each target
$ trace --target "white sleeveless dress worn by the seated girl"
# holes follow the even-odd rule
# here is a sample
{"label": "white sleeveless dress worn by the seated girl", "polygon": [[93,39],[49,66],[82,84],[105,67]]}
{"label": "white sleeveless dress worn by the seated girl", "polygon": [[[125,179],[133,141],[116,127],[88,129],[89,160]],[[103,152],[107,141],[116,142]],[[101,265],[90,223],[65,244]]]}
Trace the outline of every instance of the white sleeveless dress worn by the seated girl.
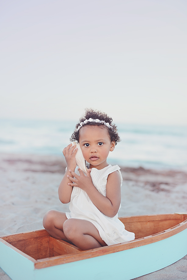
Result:
{"label": "white sleeveless dress worn by the seated girl", "polygon": [[[104,196],[106,196],[106,183],[107,177],[110,173],[118,171],[121,178],[120,167],[118,165],[108,165],[105,168],[98,170],[92,168],[91,178],[92,183],[96,189]],[[80,175],[78,167],[75,169],[75,173]],[[104,215],[99,209],[92,203],[88,194],[79,187],[73,187],[70,200],[70,213],[66,213],[67,219],[82,219],[92,222],[92,224],[98,229],[99,235],[107,245],[113,245],[135,239],[135,234],[128,232],[124,224],[118,219],[118,214],[110,218]]]}

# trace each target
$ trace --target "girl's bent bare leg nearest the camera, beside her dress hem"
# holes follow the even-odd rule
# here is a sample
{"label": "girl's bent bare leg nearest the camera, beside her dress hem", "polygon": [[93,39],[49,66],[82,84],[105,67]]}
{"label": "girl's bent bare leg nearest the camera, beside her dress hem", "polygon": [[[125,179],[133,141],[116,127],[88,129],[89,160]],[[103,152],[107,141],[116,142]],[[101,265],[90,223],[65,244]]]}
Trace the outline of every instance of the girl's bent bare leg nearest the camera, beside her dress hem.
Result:
{"label": "girl's bent bare leg nearest the camera, beside her dress hem", "polygon": [[65,236],[82,250],[89,250],[106,246],[101,239],[99,231],[89,221],[81,219],[68,219],[63,223]]}

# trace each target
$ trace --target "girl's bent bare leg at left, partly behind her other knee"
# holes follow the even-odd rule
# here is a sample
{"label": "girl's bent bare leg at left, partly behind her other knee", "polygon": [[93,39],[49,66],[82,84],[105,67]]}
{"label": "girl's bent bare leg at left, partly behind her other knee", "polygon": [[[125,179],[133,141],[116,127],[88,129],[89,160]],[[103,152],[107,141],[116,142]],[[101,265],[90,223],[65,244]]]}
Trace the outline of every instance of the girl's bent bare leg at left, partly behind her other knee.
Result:
{"label": "girl's bent bare leg at left, partly behind her other knee", "polygon": [[43,218],[43,226],[53,237],[68,241],[63,233],[63,223],[67,220],[64,212],[49,210]]}

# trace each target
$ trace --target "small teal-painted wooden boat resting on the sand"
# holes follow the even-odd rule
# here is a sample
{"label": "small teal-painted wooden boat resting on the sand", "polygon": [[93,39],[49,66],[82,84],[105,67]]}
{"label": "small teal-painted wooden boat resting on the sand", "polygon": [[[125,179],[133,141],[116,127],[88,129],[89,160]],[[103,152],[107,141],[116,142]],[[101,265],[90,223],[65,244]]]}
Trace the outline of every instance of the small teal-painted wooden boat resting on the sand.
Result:
{"label": "small teal-painted wooden boat resting on the sand", "polygon": [[0,267],[13,280],[129,280],[187,254],[187,213],[123,217],[135,240],[83,251],[45,229],[2,236]]}

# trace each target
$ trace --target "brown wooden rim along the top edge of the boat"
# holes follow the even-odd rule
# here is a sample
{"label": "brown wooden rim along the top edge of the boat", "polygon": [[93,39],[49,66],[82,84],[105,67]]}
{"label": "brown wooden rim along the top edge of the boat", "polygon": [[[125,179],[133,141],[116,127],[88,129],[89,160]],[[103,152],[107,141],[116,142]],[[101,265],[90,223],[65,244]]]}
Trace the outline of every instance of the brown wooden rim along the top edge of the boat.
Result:
{"label": "brown wooden rim along the top edge of the boat", "polygon": [[[176,214],[182,215],[181,213],[180,214],[176,213]],[[137,217],[137,218],[138,217],[142,217],[142,218],[143,217],[149,217],[149,218],[153,217],[154,218],[154,216],[155,217],[160,216],[160,218],[161,218],[162,216],[169,217],[171,215],[173,215],[173,217],[174,217],[174,215],[176,215],[176,214],[172,213],[172,214],[158,214],[158,215],[142,215],[142,216],[132,216],[132,217],[134,217],[134,218],[135,217]],[[186,218],[186,213],[184,213],[184,215]],[[132,217],[121,217],[120,219],[132,218]],[[164,240],[177,233],[180,233],[181,231],[183,231],[186,228],[187,228],[187,219],[162,232],[155,233],[153,235],[149,235],[149,236],[145,236],[145,237],[141,237],[141,238],[138,238],[135,240],[131,240],[131,241],[115,244],[115,245],[95,248],[95,249],[91,249],[91,250],[85,250],[85,251],[81,251],[81,252],[77,251],[76,253],[71,253],[71,254],[63,254],[63,255],[59,255],[59,256],[55,256],[55,257],[47,257],[47,258],[43,258],[43,259],[39,259],[39,260],[35,260],[34,258],[30,257],[29,255],[25,254],[21,250],[17,249],[13,245],[11,245],[9,242],[5,241],[3,239],[3,237],[6,237],[6,236],[2,236],[0,238],[0,241],[3,242],[4,244],[6,244],[7,246],[13,248],[13,250],[16,250],[19,254],[23,255],[27,259],[31,260],[34,263],[35,269],[41,269],[41,268],[46,268],[46,267],[55,266],[55,265],[59,265],[59,264],[66,264],[66,263],[70,263],[70,262],[74,262],[74,261],[80,261],[80,260],[84,260],[84,259],[88,259],[88,258],[92,258],[92,257],[98,257],[101,255],[112,254],[112,253],[116,253],[116,252],[120,252],[120,251],[124,251],[124,250],[128,250],[128,249],[132,249],[135,247],[144,246],[144,245],[147,245],[150,243],[155,243],[157,241]],[[38,231],[36,230],[33,232],[40,232],[41,236],[42,236],[42,233],[45,232],[45,229],[41,229]],[[28,233],[31,233],[31,232],[28,232]],[[24,233],[22,233],[22,234],[24,234]],[[25,234],[27,234],[27,233],[25,233]],[[13,234],[13,235],[16,235],[16,234]],[[46,235],[49,235],[49,234],[47,234],[47,232],[46,232],[45,236]],[[63,241],[63,242],[65,242],[65,241]]]}

